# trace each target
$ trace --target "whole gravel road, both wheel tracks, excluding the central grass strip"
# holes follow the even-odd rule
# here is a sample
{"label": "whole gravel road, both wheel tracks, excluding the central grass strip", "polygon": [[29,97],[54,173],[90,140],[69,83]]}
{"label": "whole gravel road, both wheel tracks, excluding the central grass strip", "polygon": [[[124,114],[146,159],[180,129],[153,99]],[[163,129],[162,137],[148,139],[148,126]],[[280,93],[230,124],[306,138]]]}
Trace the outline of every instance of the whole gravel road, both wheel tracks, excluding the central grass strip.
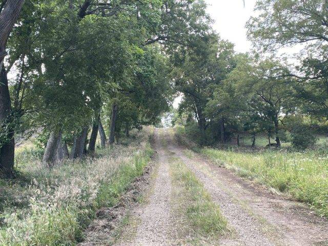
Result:
{"label": "whole gravel road, both wheel tracks, excluding the central grass strip", "polygon": [[[303,204],[285,200],[202,156],[187,152],[168,131],[156,130],[155,134],[158,168],[150,183],[148,203],[133,209],[134,221],[138,223],[124,230],[135,233],[128,239],[121,238],[116,245],[181,245],[179,218],[172,212],[169,172],[172,156],[195,173],[235,231],[234,236],[220,239],[219,245],[328,245],[328,222]],[[209,245],[217,244],[209,242]]]}

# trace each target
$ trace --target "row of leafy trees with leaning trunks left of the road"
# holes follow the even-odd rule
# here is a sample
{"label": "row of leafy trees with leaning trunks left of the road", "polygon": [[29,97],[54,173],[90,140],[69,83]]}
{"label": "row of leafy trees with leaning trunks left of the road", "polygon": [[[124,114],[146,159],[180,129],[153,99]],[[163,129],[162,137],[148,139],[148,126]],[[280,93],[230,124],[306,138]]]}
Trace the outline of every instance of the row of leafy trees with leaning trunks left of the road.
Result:
{"label": "row of leafy trees with leaning trunks left of the road", "polygon": [[202,0],[3,0],[2,175],[15,176],[17,134],[41,129],[51,168],[92,154],[98,132],[105,147],[159,122],[174,95],[170,57],[213,33],[206,7]]}

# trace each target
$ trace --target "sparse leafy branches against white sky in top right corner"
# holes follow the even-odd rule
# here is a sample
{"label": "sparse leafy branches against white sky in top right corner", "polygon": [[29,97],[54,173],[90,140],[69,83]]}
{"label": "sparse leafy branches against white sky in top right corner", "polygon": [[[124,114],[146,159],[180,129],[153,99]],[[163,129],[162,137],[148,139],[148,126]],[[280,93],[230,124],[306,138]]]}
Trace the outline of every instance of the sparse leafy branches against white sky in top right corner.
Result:
{"label": "sparse leafy branches against white sky in top right corner", "polygon": [[257,1],[260,14],[249,20],[248,35],[265,48],[306,43],[321,49],[328,42],[327,7],[324,0]]}

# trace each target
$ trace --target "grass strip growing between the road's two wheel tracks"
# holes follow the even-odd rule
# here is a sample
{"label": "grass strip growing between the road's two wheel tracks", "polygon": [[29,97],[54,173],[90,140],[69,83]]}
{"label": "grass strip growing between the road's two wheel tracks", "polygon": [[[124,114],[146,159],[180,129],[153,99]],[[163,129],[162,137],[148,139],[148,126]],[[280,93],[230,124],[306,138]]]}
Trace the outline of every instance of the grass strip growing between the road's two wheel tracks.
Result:
{"label": "grass strip growing between the road's two wheel tracks", "polygon": [[229,231],[226,218],[194,173],[177,158],[172,158],[170,169],[179,197],[179,212],[185,215],[189,231],[199,239],[226,234]]}

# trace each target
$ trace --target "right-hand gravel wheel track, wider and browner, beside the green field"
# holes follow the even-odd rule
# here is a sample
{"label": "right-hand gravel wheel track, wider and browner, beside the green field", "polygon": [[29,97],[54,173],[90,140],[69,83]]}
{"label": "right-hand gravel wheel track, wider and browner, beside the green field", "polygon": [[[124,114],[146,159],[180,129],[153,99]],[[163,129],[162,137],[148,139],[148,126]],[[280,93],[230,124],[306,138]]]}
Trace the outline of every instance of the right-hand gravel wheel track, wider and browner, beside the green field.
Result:
{"label": "right-hand gravel wheel track, wider and browner, beside the green field", "polygon": [[231,226],[235,240],[222,245],[328,245],[328,222],[303,204],[285,200],[231,171],[197,155],[186,155],[175,142],[168,143],[204,183]]}

